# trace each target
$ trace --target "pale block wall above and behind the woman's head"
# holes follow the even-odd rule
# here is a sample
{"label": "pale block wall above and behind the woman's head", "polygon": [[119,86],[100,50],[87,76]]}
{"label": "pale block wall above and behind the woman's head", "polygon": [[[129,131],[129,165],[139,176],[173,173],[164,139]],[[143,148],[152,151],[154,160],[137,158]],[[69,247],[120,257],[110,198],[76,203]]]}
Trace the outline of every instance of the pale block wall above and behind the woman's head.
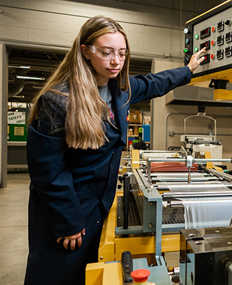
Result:
{"label": "pale block wall above and behind the woman's head", "polygon": [[[175,67],[183,60],[183,25],[185,21],[220,4],[221,1],[182,0],[0,0],[0,108],[6,110],[4,91],[4,45],[46,48],[69,48],[79,28],[91,16],[116,19],[125,29],[132,56],[158,58],[161,68]],[[5,58],[4,58],[5,56]],[[5,71],[6,73],[6,71]],[[6,112],[1,112],[1,122]],[[4,157],[5,130],[0,127],[0,160]],[[5,185],[0,166],[1,184]]]}

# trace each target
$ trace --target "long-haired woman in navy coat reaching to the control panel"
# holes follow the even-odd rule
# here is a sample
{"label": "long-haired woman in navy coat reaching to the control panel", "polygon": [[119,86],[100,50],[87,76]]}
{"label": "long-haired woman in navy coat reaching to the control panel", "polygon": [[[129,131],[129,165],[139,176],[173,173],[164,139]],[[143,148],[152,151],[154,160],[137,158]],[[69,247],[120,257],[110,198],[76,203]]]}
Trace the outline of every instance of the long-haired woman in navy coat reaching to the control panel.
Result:
{"label": "long-haired woman in navy coat reaching to the control panel", "polygon": [[31,109],[25,285],[84,284],[114,200],[130,104],[189,83],[202,52],[188,66],[131,78],[123,28],[86,21]]}

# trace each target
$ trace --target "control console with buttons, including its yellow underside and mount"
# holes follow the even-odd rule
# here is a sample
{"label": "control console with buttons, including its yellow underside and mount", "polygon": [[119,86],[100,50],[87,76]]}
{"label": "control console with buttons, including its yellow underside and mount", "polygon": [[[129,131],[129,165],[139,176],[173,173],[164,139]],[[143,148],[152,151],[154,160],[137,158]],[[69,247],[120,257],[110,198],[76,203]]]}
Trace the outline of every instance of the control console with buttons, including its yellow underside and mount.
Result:
{"label": "control console with buttons, including its yellow underside and mount", "polygon": [[215,100],[232,100],[232,91],[226,90],[232,82],[232,1],[207,11],[186,22],[185,58],[187,65],[193,53],[206,47],[201,66],[193,71],[191,84],[214,88]]}

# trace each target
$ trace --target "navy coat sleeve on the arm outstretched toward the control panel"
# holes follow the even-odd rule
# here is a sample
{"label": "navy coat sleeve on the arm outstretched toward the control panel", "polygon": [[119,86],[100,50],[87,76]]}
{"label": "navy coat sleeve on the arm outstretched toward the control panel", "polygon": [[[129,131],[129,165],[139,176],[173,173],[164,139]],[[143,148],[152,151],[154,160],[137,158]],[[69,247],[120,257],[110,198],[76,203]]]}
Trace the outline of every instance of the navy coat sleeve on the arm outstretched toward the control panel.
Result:
{"label": "navy coat sleeve on the arm outstretched toward the control panel", "polygon": [[147,76],[130,77],[131,104],[141,100],[151,100],[160,97],[190,81],[191,71],[188,66],[173,68],[155,74],[148,73]]}

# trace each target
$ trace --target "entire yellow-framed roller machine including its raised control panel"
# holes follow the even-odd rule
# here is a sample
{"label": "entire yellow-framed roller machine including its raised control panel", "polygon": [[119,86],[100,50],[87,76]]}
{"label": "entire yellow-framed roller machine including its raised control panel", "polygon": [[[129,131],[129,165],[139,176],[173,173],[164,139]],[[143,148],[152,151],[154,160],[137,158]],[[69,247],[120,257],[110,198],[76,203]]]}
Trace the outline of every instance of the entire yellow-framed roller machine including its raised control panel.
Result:
{"label": "entire yellow-framed roller machine including its raised control panel", "polygon": [[[214,100],[232,100],[226,89],[232,83],[231,23],[229,0],[186,22],[184,29],[186,65],[206,47],[191,85],[213,88]],[[213,135],[203,140],[216,145]],[[133,150],[126,162],[119,183],[123,190],[117,191],[104,223],[99,263],[86,268],[86,285],[131,284],[122,274],[125,251],[131,252],[133,270],[151,271],[149,282],[173,284],[176,271],[166,268],[164,256],[180,249],[180,284],[231,285],[232,175],[213,165],[231,158],[212,158],[199,149],[192,156],[183,148]]]}

